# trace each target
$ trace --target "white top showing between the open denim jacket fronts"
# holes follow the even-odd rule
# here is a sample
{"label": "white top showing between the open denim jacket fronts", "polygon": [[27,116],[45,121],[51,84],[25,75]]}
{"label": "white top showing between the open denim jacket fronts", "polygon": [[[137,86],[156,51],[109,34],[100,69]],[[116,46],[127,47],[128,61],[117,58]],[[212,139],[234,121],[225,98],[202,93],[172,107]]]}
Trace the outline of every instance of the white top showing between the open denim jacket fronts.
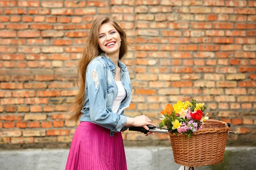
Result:
{"label": "white top showing between the open denim jacket fronts", "polygon": [[117,94],[116,99],[114,100],[113,105],[112,105],[113,113],[117,112],[121,102],[123,101],[123,99],[125,99],[125,97],[127,95],[124,87],[122,86],[121,81],[116,81],[116,85],[117,85],[117,88],[118,88],[118,94]]}

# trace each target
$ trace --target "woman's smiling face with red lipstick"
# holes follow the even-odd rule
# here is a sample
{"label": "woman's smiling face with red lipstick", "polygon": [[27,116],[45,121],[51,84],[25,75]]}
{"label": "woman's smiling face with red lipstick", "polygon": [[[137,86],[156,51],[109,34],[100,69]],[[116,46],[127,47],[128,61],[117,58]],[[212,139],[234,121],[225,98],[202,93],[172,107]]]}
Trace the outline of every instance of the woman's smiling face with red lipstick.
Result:
{"label": "woman's smiling face with red lipstick", "polygon": [[117,54],[121,45],[121,37],[111,23],[104,23],[99,28],[99,47],[108,55]]}

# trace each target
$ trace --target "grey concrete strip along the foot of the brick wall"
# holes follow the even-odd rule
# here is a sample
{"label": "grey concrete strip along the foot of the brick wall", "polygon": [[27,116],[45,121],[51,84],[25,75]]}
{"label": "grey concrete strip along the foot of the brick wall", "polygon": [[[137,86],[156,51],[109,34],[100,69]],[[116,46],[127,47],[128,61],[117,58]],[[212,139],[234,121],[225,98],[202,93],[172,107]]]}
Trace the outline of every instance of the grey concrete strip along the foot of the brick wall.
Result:
{"label": "grey concrete strip along the foot of the brick wall", "polygon": [[[69,150],[1,150],[0,170],[64,170]],[[178,170],[171,147],[125,147],[128,170]],[[189,159],[189,158],[188,158]],[[256,147],[226,147],[224,161],[195,170],[255,170]]]}

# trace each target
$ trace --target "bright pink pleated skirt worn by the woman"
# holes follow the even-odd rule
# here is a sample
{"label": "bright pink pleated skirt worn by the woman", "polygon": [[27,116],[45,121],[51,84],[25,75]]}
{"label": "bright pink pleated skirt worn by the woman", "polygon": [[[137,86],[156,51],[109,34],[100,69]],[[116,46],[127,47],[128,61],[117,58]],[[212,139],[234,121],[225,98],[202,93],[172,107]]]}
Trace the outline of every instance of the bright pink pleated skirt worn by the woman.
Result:
{"label": "bright pink pleated skirt worn by the woman", "polygon": [[127,170],[121,132],[91,122],[81,122],[76,129],[65,170]]}

